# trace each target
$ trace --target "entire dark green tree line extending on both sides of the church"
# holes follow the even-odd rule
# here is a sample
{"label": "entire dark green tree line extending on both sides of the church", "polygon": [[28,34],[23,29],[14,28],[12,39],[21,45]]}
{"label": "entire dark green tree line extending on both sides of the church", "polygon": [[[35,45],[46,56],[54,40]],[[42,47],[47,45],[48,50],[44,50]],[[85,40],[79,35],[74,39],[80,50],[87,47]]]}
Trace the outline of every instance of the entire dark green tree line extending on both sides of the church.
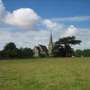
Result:
{"label": "entire dark green tree line extending on both sides of the church", "polygon": [[[90,49],[74,50],[72,45],[80,44],[75,36],[63,37],[54,43],[52,49],[53,57],[90,57]],[[31,48],[17,48],[15,43],[7,43],[0,51],[0,59],[33,58],[34,52]]]}

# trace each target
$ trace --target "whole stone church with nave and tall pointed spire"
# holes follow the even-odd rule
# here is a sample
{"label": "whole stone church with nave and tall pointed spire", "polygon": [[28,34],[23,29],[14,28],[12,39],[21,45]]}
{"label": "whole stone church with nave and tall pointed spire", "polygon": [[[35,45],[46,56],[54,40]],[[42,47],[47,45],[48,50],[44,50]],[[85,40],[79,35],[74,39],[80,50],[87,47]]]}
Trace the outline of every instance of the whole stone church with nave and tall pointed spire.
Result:
{"label": "whole stone church with nave and tall pointed spire", "polygon": [[38,46],[35,46],[33,49],[34,57],[52,56],[52,49],[53,49],[53,39],[51,33],[49,38],[48,48],[40,44]]}

